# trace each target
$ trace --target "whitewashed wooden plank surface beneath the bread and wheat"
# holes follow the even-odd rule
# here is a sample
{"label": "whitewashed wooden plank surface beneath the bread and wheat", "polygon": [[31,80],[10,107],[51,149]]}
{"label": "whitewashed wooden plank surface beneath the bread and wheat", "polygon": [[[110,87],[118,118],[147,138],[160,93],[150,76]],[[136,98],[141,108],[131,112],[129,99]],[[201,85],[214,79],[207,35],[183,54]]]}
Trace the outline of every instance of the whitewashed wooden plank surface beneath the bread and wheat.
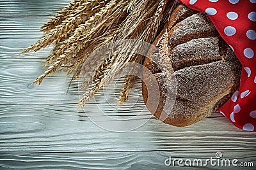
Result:
{"label": "whitewashed wooden plank surface beneath the bread and wheat", "polygon": [[[119,110],[113,106],[115,90],[108,97],[113,105],[100,92],[97,102],[88,103],[85,111],[76,105],[78,82],[67,91],[70,78],[63,72],[45,78],[41,85],[31,84],[44,72],[42,65],[51,46],[37,53],[19,53],[42,36],[40,26],[67,3],[0,1],[0,169],[171,169],[164,166],[169,156],[204,160],[216,152],[223,153],[224,159],[253,162],[255,169],[255,132],[237,129],[219,113],[189,127],[163,124],[145,108],[140,83]],[[121,85],[118,80],[116,86]],[[97,117],[97,106],[113,118],[142,113],[137,120],[148,122],[134,131],[106,131],[90,120]]]}

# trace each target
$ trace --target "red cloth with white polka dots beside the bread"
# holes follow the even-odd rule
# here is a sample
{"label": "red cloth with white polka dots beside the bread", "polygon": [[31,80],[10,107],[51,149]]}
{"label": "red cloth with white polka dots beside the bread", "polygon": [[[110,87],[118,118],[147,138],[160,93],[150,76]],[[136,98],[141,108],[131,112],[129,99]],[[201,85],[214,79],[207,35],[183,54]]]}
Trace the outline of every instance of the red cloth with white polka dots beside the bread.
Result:
{"label": "red cloth with white polka dots beside the bread", "polygon": [[244,131],[256,131],[256,0],[180,0],[209,15],[242,67],[240,87],[220,108]]}

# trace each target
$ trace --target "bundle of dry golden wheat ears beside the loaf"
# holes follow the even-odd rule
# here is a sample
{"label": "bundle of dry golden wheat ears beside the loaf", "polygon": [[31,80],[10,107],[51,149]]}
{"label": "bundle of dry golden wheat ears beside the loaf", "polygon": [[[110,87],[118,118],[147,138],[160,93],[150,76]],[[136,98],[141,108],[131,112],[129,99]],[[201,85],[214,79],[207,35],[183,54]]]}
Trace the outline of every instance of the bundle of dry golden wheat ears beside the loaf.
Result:
{"label": "bundle of dry golden wheat ears beside the loaf", "polygon": [[[72,80],[79,78],[83,64],[90,53],[113,41],[139,39],[152,43],[164,24],[168,22],[174,6],[175,1],[167,0],[72,1],[42,26],[41,31],[44,32],[44,36],[23,51],[23,53],[31,50],[36,52],[46,46],[54,46],[51,55],[45,60],[44,66],[49,67],[44,74],[36,78],[34,83],[41,83],[45,76],[55,73],[63,66],[67,68],[67,74],[73,74]],[[142,64],[143,56],[120,53],[109,55],[104,62],[99,62],[95,73],[88,74],[84,79],[85,84],[88,80],[92,80],[90,81],[92,83],[81,87],[87,89],[78,106],[84,106],[113,78],[112,73],[125,62]],[[135,81],[136,76],[128,75],[125,78],[118,99],[120,103],[128,99]]]}

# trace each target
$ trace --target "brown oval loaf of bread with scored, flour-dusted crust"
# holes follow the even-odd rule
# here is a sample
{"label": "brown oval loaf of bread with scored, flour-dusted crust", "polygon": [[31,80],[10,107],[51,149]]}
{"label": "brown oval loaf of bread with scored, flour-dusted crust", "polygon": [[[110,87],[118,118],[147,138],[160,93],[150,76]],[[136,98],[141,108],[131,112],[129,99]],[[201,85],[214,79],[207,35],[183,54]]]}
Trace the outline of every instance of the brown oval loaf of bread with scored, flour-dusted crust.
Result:
{"label": "brown oval loaf of bread with scored, flour-dusted crust", "polygon": [[[153,45],[157,50],[148,56],[168,59],[159,63],[173,70],[176,87],[166,87],[170,76],[145,58],[143,65],[152,75],[143,73],[142,93],[148,110],[166,124],[182,127],[209,117],[239,86],[241,64],[204,13],[180,4]],[[147,89],[153,79],[157,80],[159,97]],[[170,104],[166,103],[168,88],[176,88],[172,110],[166,106]]]}

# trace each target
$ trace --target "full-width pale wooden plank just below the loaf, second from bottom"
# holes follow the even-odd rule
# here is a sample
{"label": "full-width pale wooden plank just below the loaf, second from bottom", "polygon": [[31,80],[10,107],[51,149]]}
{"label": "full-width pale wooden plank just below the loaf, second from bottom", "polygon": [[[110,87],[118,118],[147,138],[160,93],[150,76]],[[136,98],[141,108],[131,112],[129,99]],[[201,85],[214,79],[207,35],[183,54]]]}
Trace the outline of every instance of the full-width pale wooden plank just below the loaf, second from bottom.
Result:
{"label": "full-width pale wooden plank just below the loaf, second from bottom", "polygon": [[[124,150],[173,152],[248,150],[250,152],[255,149],[256,137],[230,126],[230,122],[223,117],[207,118],[182,128],[172,127],[151,118],[135,131],[117,133],[97,127],[89,119],[93,117],[90,115],[93,112],[86,116],[83,111],[77,110],[74,104],[44,106],[27,104],[0,106],[0,108],[1,152],[37,153],[45,150],[48,153],[67,150],[68,152]],[[86,108],[86,110],[90,109],[92,110],[93,107]],[[110,113],[118,118],[115,112]],[[131,113],[131,115],[136,114],[138,113]],[[108,123],[113,124],[113,122]]]}

